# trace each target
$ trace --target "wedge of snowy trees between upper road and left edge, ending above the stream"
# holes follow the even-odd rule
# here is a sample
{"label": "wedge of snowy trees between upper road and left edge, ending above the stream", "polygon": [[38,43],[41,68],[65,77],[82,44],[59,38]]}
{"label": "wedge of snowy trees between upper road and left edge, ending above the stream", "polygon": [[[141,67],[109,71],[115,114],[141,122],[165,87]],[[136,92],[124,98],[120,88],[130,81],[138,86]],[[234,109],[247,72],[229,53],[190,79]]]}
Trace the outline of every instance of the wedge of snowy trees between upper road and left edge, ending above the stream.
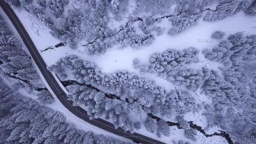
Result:
{"label": "wedge of snowy trees between upper road and left edge, ending above the stream", "polygon": [[31,57],[22,50],[20,41],[14,37],[1,16],[0,27],[0,70],[32,86],[31,81],[37,80],[39,76],[33,68]]}

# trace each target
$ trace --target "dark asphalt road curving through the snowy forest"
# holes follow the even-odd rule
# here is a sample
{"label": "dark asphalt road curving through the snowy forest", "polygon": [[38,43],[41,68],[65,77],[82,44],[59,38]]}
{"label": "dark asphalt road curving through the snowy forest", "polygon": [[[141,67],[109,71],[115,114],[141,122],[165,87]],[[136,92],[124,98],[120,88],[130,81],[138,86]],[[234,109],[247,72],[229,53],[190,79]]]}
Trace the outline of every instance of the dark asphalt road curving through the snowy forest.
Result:
{"label": "dark asphalt road curving through the snowy forest", "polygon": [[34,62],[36,62],[37,67],[41,71],[42,75],[44,76],[44,79],[50,86],[51,90],[55,93],[57,98],[69,111],[71,111],[75,116],[83,119],[85,122],[95,125],[96,127],[101,128],[103,130],[109,131],[110,133],[133,140],[133,142],[147,143],[147,144],[163,143],[158,140],[154,140],[150,137],[143,136],[137,133],[133,133],[133,134],[125,133],[121,129],[115,129],[112,123],[104,121],[103,119],[100,119],[100,118],[90,120],[89,116],[87,115],[87,112],[84,109],[82,109],[79,106],[73,106],[72,101],[67,100],[66,93],[59,86],[59,83],[57,83],[53,74],[51,74],[50,71],[46,69],[46,64],[43,58],[40,56],[40,53],[38,52],[36,46],[33,44],[33,41],[31,40],[30,36],[26,32],[26,29],[24,28],[24,26],[22,26],[22,23],[20,22],[20,20],[18,19],[14,11],[11,9],[11,7],[7,3],[3,2],[2,0],[0,0],[0,5],[4,10],[4,12],[8,15],[10,21],[13,23],[16,30],[19,32],[20,37],[24,41],[24,44],[26,45],[28,51],[30,52],[30,55],[34,59]]}

